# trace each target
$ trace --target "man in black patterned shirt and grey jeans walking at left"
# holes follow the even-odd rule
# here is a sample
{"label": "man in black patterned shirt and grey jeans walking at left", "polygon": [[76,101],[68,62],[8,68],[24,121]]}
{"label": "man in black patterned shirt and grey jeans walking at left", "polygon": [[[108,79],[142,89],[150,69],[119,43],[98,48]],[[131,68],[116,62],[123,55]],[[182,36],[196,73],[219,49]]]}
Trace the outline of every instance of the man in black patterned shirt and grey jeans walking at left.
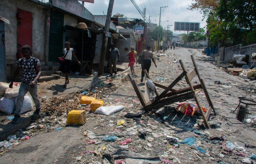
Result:
{"label": "man in black patterned shirt and grey jeans walking at left", "polygon": [[22,82],[19,89],[19,96],[12,123],[17,123],[20,120],[20,110],[23,104],[24,96],[27,94],[27,92],[30,93],[36,105],[36,111],[31,116],[32,121],[35,121],[38,118],[41,109],[40,100],[37,96],[37,81],[41,75],[40,61],[31,56],[32,51],[28,45],[22,47],[22,53],[24,58],[18,60],[17,68],[9,85],[9,87],[12,88],[14,80],[19,74],[20,69],[22,69]]}

